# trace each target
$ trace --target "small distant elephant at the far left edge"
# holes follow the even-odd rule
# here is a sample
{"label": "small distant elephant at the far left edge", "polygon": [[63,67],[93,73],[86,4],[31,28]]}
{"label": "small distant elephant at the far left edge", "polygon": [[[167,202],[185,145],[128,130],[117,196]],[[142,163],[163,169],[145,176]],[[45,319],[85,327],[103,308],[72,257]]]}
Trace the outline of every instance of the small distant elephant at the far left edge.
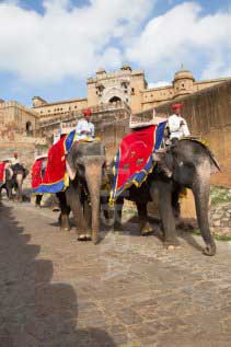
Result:
{"label": "small distant elephant at the far left edge", "polygon": [[0,187],[0,193],[2,188],[5,188],[8,198],[13,199],[13,188],[16,192],[15,199],[22,203],[23,190],[22,185],[24,178],[27,176],[28,171],[21,164],[15,164],[5,169],[5,183]]}

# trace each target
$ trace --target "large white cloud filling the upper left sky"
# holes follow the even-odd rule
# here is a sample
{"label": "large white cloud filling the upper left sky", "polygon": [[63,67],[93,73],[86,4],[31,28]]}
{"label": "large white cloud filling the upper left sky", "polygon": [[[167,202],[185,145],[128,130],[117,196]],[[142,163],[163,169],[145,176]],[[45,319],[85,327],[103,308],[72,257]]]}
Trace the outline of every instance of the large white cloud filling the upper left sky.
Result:
{"label": "large white cloud filling the upper left sky", "polygon": [[44,0],[43,15],[15,1],[0,2],[0,70],[49,83],[118,67],[124,59],[114,41],[134,35],[152,5],[152,0],[91,0],[77,8],[70,0]]}

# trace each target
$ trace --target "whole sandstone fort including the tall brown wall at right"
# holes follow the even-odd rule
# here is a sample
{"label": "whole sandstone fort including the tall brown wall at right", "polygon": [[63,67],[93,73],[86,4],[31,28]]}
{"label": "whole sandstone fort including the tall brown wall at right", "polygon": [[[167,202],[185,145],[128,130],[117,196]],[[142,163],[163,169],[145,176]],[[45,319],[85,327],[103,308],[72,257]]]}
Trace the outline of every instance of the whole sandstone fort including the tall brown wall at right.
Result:
{"label": "whole sandstone fort including the tall brown wall at right", "polygon": [[1,158],[16,150],[30,167],[34,154],[47,149],[57,129],[70,130],[82,109],[91,107],[96,136],[104,141],[111,159],[129,132],[130,114],[146,119],[152,117],[155,108],[166,116],[177,100],[184,104],[192,134],[208,141],[221,164],[222,171],[212,182],[231,186],[231,78],[196,81],[190,71],[182,68],[169,85],[149,88],[143,71],[124,66],[115,72],[99,70],[86,85],[85,99],[49,103],[36,96],[32,107],[0,100]]}

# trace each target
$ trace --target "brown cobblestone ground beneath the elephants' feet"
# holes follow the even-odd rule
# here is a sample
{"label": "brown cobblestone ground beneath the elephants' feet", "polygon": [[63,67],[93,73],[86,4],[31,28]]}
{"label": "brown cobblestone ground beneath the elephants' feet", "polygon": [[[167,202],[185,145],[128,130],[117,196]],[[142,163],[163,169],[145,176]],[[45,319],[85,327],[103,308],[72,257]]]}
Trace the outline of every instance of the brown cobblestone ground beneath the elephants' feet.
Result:
{"label": "brown cobblestone ground beneath the elephants' feet", "polygon": [[230,243],[206,257],[183,233],[168,252],[130,221],[95,246],[56,221],[0,206],[1,347],[231,346]]}

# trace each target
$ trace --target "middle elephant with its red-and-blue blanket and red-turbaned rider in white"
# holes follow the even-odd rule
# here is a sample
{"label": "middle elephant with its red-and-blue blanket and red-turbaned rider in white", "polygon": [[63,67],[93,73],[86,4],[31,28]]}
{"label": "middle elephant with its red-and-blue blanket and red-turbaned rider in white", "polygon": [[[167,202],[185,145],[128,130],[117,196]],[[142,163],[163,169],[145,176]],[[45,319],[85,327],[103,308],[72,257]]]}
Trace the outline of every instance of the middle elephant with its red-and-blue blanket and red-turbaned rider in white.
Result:
{"label": "middle elephant with its red-and-blue blanket and red-turbaned rider in white", "polygon": [[105,147],[94,138],[89,122],[91,111],[84,112],[77,129],[63,135],[48,151],[43,182],[35,194],[57,194],[60,201],[60,227],[69,230],[70,209],[78,228],[78,240],[99,240],[101,186],[105,176]]}

